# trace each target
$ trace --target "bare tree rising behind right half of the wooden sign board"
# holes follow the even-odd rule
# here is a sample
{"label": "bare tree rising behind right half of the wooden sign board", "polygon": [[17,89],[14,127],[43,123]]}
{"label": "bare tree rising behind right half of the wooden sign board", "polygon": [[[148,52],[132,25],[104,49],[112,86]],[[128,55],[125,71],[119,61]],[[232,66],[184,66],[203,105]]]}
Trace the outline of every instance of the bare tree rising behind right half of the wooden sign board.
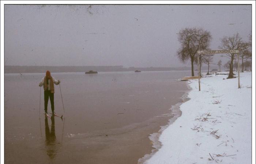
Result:
{"label": "bare tree rising behind right half of the wooden sign board", "polygon": [[[245,50],[248,47],[248,43],[245,43],[242,41],[241,36],[237,33],[234,34],[233,36],[224,36],[221,39],[221,48],[222,50]],[[233,73],[233,60],[236,59],[237,55],[236,54],[226,54],[227,58],[230,58],[230,63],[229,63],[229,78],[234,78],[234,73]]]}

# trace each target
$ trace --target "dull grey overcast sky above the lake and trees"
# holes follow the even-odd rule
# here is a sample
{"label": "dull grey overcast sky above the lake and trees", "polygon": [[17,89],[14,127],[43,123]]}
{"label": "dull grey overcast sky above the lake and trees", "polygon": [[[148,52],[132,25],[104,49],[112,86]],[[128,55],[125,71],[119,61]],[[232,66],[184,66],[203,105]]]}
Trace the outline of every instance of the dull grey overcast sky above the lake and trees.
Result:
{"label": "dull grey overcast sky above the lake and trees", "polygon": [[[252,31],[251,5],[5,5],[5,65],[184,66],[177,33],[211,32],[210,48]],[[215,55],[215,61],[217,61]],[[227,61],[225,58],[221,58]],[[190,66],[189,61],[186,66]]]}

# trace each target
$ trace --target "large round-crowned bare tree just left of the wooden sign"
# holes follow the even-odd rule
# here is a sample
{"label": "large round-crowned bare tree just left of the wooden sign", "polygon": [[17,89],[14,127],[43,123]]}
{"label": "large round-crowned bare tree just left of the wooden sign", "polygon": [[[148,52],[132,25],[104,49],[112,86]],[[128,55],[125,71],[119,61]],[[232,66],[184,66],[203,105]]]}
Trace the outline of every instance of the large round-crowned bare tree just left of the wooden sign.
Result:
{"label": "large round-crowned bare tree just left of the wooden sign", "polygon": [[177,51],[178,58],[182,62],[191,61],[191,75],[194,75],[194,62],[197,61],[197,51],[209,47],[212,37],[210,32],[202,28],[185,28],[178,33],[178,41],[181,48]]}

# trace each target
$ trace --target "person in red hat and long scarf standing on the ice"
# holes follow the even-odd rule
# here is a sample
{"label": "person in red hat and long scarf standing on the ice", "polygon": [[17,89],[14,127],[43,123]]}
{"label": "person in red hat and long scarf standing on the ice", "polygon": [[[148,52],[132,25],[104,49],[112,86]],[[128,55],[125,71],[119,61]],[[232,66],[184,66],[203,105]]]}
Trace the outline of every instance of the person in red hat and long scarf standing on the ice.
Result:
{"label": "person in red hat and long scarf standing on the ice", "polygon": [[44,86],[44,99],[45,99],[45,113],[47,114],[48,100],[50,97],[52,113],[54,114],[54,84],[59,85],[60,80],[56,81],[54,77],[51,76],[50,71],[46,71],[46,76],[42,78],[39,83],[39,87]]}

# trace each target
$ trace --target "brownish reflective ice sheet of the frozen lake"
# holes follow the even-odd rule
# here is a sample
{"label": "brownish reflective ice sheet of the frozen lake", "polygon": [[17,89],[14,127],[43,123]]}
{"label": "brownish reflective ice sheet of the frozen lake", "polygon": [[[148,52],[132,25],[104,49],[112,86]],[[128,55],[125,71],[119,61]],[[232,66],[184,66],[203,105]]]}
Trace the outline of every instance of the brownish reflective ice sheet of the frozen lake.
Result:
{"label": "brownish reflective ice sheet of the frozen lake", "polygon": [[[65,113],[59,86],[55,86],[54,105],[57,114],[64,114],[63,120],[45,119],[42,90],[38,119],[36,86],[43,74],[5,76],[5,163],[138,163],[153,149],[150,134],[168,123],[173,117],[170,107],[182,102],[188,90],[186,82],[161,79],[155,73],[103,74],[107,80],[101,87],[95,84],[101,76],[83,76],[83,81],[78,75],[53,74],[61,80]],[[27,83],[38,90],[26,94]]]}

